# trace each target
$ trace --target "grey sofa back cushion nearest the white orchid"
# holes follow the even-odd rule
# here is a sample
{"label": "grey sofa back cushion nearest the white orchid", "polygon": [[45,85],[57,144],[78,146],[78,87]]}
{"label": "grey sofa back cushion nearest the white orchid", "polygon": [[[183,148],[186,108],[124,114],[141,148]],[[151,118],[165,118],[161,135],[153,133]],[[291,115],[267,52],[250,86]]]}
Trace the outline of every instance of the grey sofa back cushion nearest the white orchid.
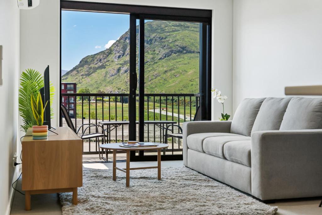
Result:
{"label": "grey sofa back cushion nearest the white orchid", "polygon": [[230,133],[251,136],[251,129],[265,98],[245,98],[232,119]]}

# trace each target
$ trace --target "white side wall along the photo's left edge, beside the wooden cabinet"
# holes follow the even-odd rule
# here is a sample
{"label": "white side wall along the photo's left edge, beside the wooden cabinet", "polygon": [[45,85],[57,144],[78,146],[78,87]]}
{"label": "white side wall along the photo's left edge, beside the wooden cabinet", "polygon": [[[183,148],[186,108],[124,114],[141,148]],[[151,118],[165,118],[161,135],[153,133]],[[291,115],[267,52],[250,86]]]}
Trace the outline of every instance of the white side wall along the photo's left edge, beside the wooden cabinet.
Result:
{"label": "white side wall along the photo's left edge, beside the wooden cabinet", "polygon": [[13,193],[11,183],[18,170],[12,167],[12,158],[17,152],[18,136],[19,10],[17,1],[0,1],[0,32],[0,46],[3,50],[3,60],[0,63],[3,79],[0,85],[0,214],[6,214],[10,210],[10,196]]}

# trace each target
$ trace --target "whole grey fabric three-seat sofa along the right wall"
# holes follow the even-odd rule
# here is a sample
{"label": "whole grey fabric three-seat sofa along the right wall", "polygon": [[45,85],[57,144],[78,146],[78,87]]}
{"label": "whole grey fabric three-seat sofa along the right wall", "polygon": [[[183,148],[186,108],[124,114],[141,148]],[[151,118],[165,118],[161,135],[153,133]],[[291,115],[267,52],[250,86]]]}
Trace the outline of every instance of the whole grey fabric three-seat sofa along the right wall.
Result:
{"label": "whole grey fabric three-seat sofa along the right wall", "polygon": [[322,98],[247,98],[183,124],[184,165],[261,200],[322,196]]}

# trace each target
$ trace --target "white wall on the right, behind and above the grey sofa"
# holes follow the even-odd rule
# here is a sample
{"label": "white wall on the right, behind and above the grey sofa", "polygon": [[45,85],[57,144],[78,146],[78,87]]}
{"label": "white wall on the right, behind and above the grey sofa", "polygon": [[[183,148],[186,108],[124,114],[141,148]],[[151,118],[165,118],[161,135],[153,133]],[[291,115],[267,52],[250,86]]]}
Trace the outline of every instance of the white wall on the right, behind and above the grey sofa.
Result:
{"label": "white wall on the right, behind and above the grey sofa", "polygon": [[322,84],[321,12],[320,0],[234,1],[234,111],[243,98]]}

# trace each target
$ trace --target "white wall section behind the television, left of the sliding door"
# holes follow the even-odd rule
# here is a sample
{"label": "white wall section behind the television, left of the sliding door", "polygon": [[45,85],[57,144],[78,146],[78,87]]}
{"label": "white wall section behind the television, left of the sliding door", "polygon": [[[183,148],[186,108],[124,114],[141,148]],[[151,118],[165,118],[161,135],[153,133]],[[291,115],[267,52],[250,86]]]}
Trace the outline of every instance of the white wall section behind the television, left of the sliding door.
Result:
{"label": "white wall section behind the television, left of the sliding door", "polygon": [[56,88],[52,126],[57,126],[59,116],[59,4],[59,0],[41,0],[36,8],[20,11],[20,69],[43,74],[49,65],[50,81]]}

